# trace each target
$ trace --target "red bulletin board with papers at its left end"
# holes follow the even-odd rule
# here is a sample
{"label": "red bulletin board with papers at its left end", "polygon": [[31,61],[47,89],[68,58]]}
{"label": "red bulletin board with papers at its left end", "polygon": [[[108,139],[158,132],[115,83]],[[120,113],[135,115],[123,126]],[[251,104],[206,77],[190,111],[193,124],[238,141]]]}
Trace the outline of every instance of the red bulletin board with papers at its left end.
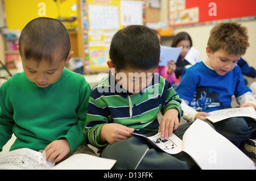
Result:
{"label": "red bulletin board with papers at its left end", "polygon": [[[209,13],[216,4],[216,15]],[[255,0],[169,0],[169,26],[214,24],[230,20],[256,19]]]}

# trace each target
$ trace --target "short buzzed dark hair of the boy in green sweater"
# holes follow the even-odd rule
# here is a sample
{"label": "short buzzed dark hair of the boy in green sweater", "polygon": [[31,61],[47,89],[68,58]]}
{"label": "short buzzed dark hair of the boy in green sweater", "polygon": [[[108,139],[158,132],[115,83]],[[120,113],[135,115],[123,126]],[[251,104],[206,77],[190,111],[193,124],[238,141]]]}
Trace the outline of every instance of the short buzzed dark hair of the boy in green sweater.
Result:
{"label": "short buzzed dark hair of the boy in green sweater", "polygon": [[60,53],[60,61],[66,60],[71,48],[65,26],[56,19],[36,18],[22,30],[19,38],[19,52],[22,58],[52,62],[53,54]]}

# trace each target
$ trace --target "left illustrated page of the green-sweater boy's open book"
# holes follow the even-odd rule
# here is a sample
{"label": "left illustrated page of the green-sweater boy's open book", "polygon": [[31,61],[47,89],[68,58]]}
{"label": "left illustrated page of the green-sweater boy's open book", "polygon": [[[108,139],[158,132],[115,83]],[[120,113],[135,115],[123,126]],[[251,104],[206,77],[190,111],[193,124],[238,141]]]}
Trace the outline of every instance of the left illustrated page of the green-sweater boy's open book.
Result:
{"label": "left illustrated page of the green-sweater boy's open book", "polygon": [[27,148],[16,149],[0,155],[0,169],[45,170],[55,162],[47,162],[39,151]]}

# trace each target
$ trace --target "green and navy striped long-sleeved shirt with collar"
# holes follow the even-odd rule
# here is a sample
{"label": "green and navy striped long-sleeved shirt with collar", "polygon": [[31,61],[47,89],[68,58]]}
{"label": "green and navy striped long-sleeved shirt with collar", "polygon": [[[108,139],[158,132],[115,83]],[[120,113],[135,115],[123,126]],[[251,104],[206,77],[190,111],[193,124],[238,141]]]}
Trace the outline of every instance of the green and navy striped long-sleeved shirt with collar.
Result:
{"label": "green and navy striped long-sleeved shirt with collar", "polygon": [[130,94],[122,87],[122,91],[117,91],[117,82],[113,79],[111,74],[103,78],[93,87],[89,97],[84,134],[87,142],[96,148],[104,149],[107,145],[100,144],[104,124],[118,123],[137,131],[158,131],[159,111],[164,114],[175,108],[179,111],[179,119],[182,116],[179,95],[160,75],[154,74],[150,85],[138,94]]}

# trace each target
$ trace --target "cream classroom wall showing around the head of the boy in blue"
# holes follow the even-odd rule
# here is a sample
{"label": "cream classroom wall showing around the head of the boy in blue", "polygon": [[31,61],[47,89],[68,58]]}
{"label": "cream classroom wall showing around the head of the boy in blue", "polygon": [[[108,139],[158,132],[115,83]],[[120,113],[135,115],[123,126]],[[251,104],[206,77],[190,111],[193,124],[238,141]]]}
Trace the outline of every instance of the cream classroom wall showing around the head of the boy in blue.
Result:
{"label": "cream classroom wall showing around the head of the boy in blue", "polygon": [[[168,24],[168,0],[161,0],[162,6],[160,10],[160,21]],[[248,28],[250,47],[247,49],[243,58],[250,66],[256,69],[256,21],[240,22],[243,26]],[[191,35],[193,46],[201,53],[202,60],[207,58],[206,47],[209,38],[210,30],[213,25],[197,26],[197,27],[184,27],[174,30],[174,35],[181,31],[185,31]]]}

